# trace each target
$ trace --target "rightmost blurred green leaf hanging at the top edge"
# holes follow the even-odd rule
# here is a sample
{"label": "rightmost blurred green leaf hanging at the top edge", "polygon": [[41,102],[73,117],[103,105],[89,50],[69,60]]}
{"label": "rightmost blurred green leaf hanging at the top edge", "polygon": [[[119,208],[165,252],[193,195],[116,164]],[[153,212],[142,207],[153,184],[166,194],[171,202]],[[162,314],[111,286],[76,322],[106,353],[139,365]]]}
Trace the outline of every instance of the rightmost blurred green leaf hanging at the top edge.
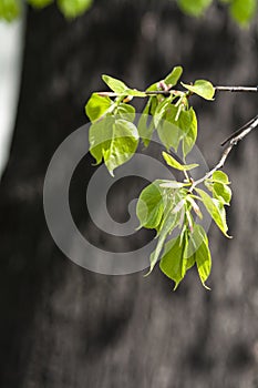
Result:
{"label": "rightmost blurred green leaf hanging at the top edge", "polygon": [[230,3],[231,17],[242,27],[249,24],[257,10],[257,0],[233,0]]}

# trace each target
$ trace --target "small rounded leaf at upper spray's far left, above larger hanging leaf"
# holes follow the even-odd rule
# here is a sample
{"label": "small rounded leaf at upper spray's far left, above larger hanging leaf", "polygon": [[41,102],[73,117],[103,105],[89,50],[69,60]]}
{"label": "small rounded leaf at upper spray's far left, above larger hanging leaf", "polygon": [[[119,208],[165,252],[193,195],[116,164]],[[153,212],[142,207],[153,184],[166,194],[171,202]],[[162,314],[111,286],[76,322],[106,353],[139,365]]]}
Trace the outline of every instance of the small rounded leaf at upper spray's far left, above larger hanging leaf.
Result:
{"label": "small rounded leaf at upper spray's far left, above larger hanging leaf", "polygon": [[114,108],[115,104],[109,96],[100,96],[97,93],[93,93],[86,103],[85,111],[91,122],[94,123]]}

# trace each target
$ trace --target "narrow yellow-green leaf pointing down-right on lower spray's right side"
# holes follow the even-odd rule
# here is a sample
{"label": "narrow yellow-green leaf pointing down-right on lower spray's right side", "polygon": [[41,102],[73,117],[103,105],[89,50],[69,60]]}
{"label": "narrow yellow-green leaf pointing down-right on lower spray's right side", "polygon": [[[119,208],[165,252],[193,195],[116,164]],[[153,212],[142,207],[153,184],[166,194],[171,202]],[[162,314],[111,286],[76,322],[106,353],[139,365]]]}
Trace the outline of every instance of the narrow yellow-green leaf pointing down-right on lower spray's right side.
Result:
{"label": "narrow yellow-green leaf pointing down-right on lower spray's right side", "polygon": [[195,187],[195,190],[200,195],[207,212],[210,214],[217,226],[226,237],[230,238],[230,236],[227,234],[228,226],[224,204],[216,198],[211,198],[204,190],[197,187]]}

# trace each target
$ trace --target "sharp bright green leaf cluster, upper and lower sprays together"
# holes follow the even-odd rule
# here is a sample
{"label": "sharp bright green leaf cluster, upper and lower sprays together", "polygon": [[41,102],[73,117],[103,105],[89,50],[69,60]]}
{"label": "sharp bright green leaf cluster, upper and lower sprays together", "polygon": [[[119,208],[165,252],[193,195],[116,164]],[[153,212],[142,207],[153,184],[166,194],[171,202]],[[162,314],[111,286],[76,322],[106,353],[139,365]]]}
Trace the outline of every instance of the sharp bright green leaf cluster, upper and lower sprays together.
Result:
{"label": "sharp bright green leaf cluster, upper and lower sprays together", "polygon": [[[193,169],[198,167],[197,164],[186,163],[186,156],[197,139],[197,116],[189,98],[196,94],[211,101],[215,88],[207,80],[197,80],[190,84],[180,82],[184,89],[178,89],[176,85],[182,73],[182,67],[175,67],[145,91],[103,75],[111,91],[93,93],[85,106],[92,123],[89,131],[90,152],[96,164],[104,161],[113,175],[116,167],[134,155],[140,142],[148,146],[156,131],[166,149],[163,152],[164,162],[171,169],[180,171],[185,178],[182,182],[156,180],[140,195],[136,208],[140,227],[155,229],[157,239],[148,273],[161,261],[159,268],[174,280],[174,288],[177,288],[186,272],[196,265],[202,284],[207,287],[211,257],[208,237],[200,225],[200,207],[229,237],[225,206],[230,203],[231,191],[228,177],[221,171],[214,171],[200,180],[206,191],[199,188],[189,175]],[[134,98],[146,99],[137,121],[131,104]],[[183,161],[175,156],[179,147]]]}

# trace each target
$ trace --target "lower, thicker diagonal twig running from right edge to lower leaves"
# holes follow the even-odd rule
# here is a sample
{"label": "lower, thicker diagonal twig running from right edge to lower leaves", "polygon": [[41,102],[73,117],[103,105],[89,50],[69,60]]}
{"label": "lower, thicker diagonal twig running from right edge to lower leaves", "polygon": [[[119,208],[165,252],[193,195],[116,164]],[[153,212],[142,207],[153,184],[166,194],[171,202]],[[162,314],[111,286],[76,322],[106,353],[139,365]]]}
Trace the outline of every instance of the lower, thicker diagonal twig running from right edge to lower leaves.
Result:
{"label": "lower, thicker diagonal twig running from right edge to lower leaves", "polygon": [[[199,180],[195,181],[190,187],[190,192],[193,192],[193,190],[199,185],[200,183],[203,183],[205,180],[207,180],[208,177],[210,177],[215,171],[221,169],[230,153],[230,151],[233,150],[233,147],[235,145],[238,144],[238,142],[240,142],[244,137],[246,137],[252,130],[258,127],[258,115],[255,116],[252,120],[250,120],[246,125],[244,125],[240,130],[236,131],[234,133],[234,135],[231,135],[226,142],[229,142],[228,146],[224,150],[223,155],[219,160],[219,162],[216,164],[216,166],[214,169],[211,169],[207,174],[205,174],[203,177],[200,177]],[[224,142],[225,143],[225,142]]]}

